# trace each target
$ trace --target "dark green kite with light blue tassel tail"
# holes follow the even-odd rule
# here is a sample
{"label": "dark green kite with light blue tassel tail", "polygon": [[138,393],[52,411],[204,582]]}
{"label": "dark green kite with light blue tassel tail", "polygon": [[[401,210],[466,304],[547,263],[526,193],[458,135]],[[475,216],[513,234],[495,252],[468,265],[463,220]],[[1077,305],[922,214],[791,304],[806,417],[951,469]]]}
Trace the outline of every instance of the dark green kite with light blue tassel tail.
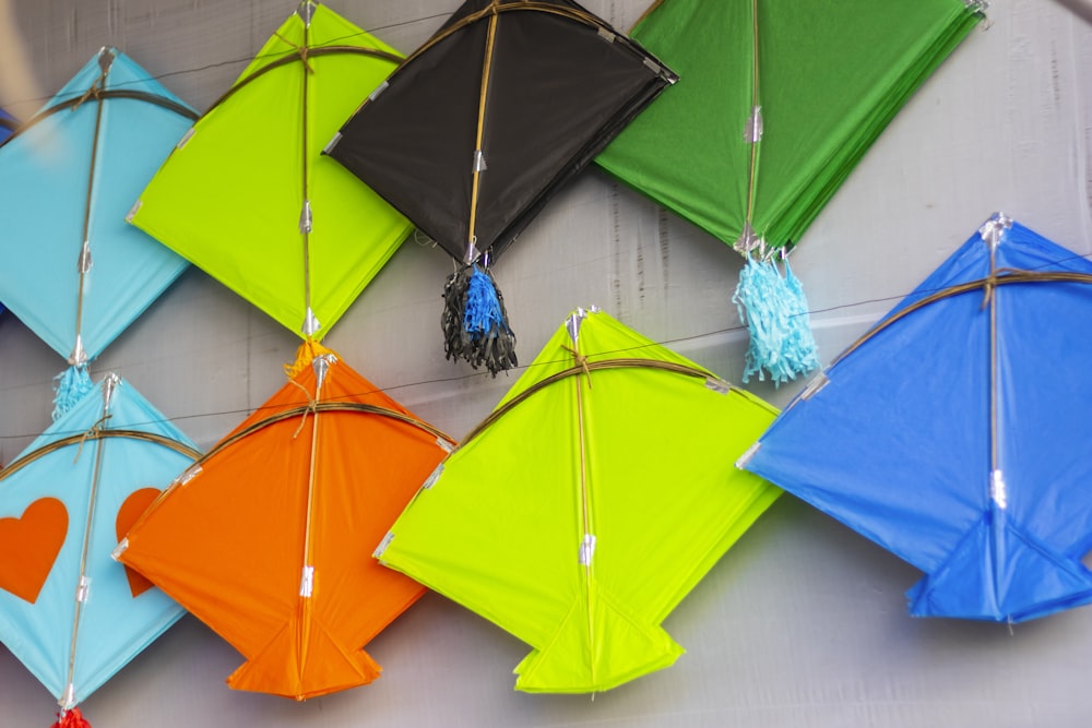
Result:
{"label": "dark green kite with light blue tassel tail", "polygon": [[986,3],[897,4],[660,0],[633,28],[682,82],[596,162],[746,259],[744,382],[819,367],[788,253]]}

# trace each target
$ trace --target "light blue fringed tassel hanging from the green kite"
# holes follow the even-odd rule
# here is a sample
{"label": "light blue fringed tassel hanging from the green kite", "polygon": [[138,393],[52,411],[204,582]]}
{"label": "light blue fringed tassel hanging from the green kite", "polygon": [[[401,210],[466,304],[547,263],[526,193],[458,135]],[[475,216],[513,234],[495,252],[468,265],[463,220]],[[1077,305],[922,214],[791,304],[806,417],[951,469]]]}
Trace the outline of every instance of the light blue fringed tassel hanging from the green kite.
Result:
{"label": "light blue fringed tassel hanging from the green kite", "polygon": [[745,384],[751,374],[782,384],[819,368],[808,301],[787,260],[782,276],[776,263],[748,256],[732,301],[750,331]]}

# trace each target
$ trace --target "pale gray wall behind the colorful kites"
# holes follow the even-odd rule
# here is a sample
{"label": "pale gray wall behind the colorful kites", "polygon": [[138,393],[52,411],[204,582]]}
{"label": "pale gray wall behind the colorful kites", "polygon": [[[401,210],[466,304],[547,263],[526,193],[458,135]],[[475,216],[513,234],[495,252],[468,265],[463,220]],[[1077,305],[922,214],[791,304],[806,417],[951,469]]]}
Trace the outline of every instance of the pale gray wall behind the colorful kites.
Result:
{"label": "pale gray wall behind the colorful kites", "polygon": [[[332,7],[411,51],[458,4]],[[585,4],[628,28],[646,1]],[[899,2],[890,5],[898,12]],[[1092,27],[1073,10],[1082,5],[995,0],[988,26],[912,99],[802,240],[794,270],[807,286],[824,361],[995,210],[1092,252]],[[293,0],[14,0],[14,27],[37,91],[9,87],[0,106],[29,116],[100,46],[115,45],[153,74],[171,74],[165,83],[204,109],[294,8]],[[0,67],[9,86],[12,68]],[[739,264],[723,243],[592,169],[554,200],[495,272],[524,361],[571,308],[595,303],[738,380],[746,337],[731,296]],[[443,360],[439,293],[449,271],[444,254],[407,242],[327,343],[461,437],[513,379]],[[119,372],[207,446],[281,385],[281,365],[297,343],[191,270],[91,369],[96,379]],[[0,317],[0,462],[49,425],[50,379],[62,366],[10,313]],[[783,405],[798,385],[750,389]],[[667,619],[689,649],[677,665],[594,701],[514,693],[511,668],[527,647],[430,594],[369,646],[385,669],[371,685],[301,704],[229,691],[223,680],[240,656],[187,617],[83,709],[99,728],[1001,728],[1076,726],[1092,713],[1092,611],[1012,633],[914,620],[902,593],[918,576],[786,497]],[[46,690],[0,647],[0,726],[45,726],[54,709]]]}

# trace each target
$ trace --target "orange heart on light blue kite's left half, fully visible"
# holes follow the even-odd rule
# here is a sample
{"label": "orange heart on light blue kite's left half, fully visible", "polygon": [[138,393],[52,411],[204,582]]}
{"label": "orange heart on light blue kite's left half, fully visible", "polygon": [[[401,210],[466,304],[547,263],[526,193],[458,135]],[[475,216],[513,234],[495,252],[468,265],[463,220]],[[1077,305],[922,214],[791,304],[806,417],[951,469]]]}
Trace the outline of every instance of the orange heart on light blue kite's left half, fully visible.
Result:
{"label": "orange heart on light blue kite's left half, fully visible", "polygon": [[0,518],[0,588],[37,601],[67,535],[68,510],[56,498],[39,498],[19,518]]}

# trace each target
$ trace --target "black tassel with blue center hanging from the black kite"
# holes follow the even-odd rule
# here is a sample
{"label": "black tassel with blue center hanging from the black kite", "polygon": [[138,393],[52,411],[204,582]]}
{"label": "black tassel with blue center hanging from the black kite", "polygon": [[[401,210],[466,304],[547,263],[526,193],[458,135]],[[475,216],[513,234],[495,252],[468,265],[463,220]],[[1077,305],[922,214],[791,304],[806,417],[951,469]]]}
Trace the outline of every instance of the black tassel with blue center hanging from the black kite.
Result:
{"label": "black tassel with blue center hanging from the black kite", "polygon": [[505,297],[488,271],[476,264],[452,273],[443,286],[444,355],[485,366],[496,377],[519,366],[515,334],[508,325]]}

